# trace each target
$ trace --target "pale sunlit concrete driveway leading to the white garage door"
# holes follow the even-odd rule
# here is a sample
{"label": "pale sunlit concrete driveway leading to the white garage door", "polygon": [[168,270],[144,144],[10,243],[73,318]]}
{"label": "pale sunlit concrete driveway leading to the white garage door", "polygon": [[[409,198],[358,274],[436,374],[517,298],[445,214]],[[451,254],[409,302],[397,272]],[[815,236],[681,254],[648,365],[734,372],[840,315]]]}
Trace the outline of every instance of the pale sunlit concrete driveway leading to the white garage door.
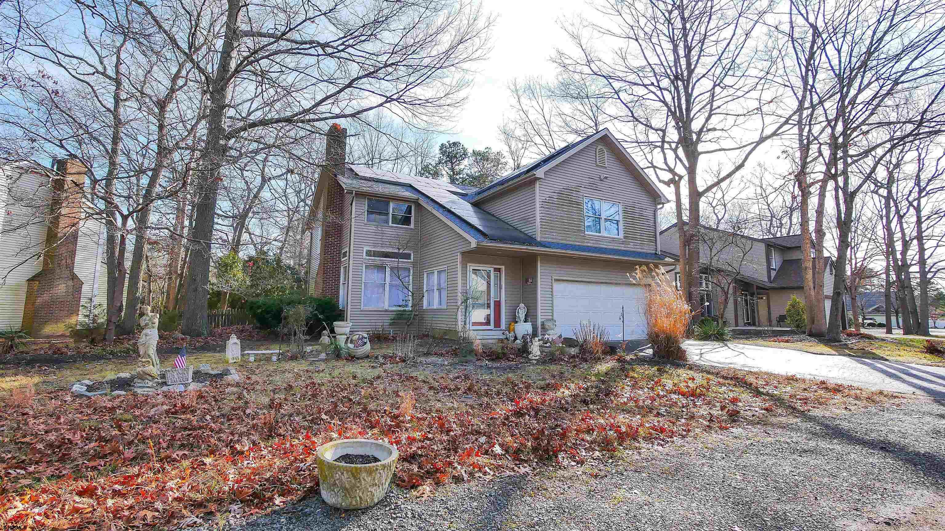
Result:
{"label": "pale sunlit concrete driveway leading to the white garage door", "polygon": [[686,341],[683,347],[696,364],[796,374],[945,400],[945,368],[714,341]]}

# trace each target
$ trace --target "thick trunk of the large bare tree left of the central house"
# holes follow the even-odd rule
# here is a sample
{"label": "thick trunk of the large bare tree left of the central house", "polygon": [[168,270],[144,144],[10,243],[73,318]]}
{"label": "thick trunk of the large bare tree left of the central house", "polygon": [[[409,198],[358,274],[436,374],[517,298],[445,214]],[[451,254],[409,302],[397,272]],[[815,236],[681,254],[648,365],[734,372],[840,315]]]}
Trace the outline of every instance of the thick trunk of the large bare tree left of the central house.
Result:
{"label": "thick trunk of the large bare tree left of the central house", "polygon": [[236,60],[236,45],[239,43],[241,10],[242,3],[239,0],[227,0],[226,34],[209,91],[210,110],[207,113],[205,151],[200,157],[197,172],[197,201],[194,206],[194,229],[190,246],[190,271],[187,274],[187,306],[181,322],[181,333],[184,335],[202,337],[210,333],[207,300],[210,297],[216,197],[220,180],[223,179],[222,165],[226,163],[229,144],[226,131],[227,104]]}

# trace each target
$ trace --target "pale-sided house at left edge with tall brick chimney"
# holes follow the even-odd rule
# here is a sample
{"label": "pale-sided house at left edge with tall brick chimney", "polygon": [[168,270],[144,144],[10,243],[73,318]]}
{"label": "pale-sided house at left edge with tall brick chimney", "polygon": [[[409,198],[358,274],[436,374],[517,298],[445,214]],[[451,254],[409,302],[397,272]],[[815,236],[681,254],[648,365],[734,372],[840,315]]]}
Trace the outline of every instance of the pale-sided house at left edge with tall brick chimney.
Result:
{"label": "pale-sided house at left edge with tall brick chimney", "polygon": [[86,172],[74,160],[0,164],[0,329],[66,334],[80,307],[104,308],[105,231],[82,215]]}

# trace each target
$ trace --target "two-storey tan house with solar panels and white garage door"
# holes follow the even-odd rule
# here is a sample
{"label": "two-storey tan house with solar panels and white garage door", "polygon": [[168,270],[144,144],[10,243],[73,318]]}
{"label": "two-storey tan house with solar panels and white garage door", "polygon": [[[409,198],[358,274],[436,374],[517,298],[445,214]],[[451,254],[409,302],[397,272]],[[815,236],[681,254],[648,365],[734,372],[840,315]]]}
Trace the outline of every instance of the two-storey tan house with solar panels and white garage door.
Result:
{"label": "two-storey tan house with solar panels and white garage door", "polygon": [[346,134],[327,135],[309,287],[338,300],[352,330],[392,328],[413,294],[432,334],[455,336],[472,298],[466,326],[484,340],[520,303],[536,333],[554,318],[565,336],[591,320],[612,339],[644,338],[644,287],[629,275],[675,264],[657,230],[668,199],[609,130],[480,189],[345,164]]}

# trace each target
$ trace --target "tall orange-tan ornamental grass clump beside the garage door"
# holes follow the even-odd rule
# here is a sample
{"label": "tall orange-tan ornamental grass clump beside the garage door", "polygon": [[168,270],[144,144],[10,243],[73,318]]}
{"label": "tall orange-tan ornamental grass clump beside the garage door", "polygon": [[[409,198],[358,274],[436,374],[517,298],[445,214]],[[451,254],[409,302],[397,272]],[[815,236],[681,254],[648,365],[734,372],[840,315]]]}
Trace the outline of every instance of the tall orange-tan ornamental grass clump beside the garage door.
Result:
{"label": "tall orange-tan ornamental grass clump beside the garage door", "polygon": [[646,287],[646,338],[653,346],[654,357],[686,361],[682,341],[693,310],[676,289],[675,279],[656,266],[638,266],[635,279]]}

